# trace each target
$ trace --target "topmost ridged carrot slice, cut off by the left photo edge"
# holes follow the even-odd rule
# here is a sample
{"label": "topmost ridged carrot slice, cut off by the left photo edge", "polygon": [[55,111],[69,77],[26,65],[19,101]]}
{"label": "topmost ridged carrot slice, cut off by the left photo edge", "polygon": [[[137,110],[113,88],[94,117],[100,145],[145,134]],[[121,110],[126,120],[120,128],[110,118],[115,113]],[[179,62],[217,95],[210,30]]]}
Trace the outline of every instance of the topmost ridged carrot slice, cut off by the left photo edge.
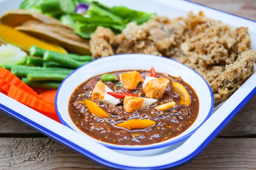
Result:
{"label": "topmost ridged carrot slice, cut off by the left photo edge", "polygon": [[3,79],[5,82],[9,83],[10,85],[13,84],[36,97],[39,96],[31,87],[22,82],[21,79],[19,79],[16,75],[11,73],[11,71],[5,68],[0,67],[0,78]]}

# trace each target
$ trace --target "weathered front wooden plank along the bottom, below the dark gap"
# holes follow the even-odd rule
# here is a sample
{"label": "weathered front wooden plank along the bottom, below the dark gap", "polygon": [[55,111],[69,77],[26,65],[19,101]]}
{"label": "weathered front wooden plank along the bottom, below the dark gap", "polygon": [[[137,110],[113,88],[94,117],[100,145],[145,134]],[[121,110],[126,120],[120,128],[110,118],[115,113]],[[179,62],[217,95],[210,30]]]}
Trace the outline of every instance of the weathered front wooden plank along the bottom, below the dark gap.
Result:
{"label": "weathered front wooden plank along the bottom, below the dark gap", "polygon": [[[49,138],[0,138],[0,145],[0,169],[111,170]],[[253,170],[255,157],[255,138],[217,138],[176,170]]]}

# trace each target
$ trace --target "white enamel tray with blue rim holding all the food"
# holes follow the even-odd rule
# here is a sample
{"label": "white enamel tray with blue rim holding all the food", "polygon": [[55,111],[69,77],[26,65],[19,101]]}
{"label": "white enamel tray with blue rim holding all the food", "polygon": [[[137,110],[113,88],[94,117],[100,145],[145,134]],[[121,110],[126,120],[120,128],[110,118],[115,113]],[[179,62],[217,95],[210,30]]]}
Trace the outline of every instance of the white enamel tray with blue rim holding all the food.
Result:
{"label": "white enamel tray with blue rim holding all the food", "polygon": [[[21,2],[22,0],[0,0],[0,15],[9,9],[18,8]],[[188,11],[198,13],[202,10],[209,18],[221,20],[234,27],[248,27],[252,38],[252,49],[256,50],[256,22],[252,20],[185,0],[108,0],[103,3],[110,6],[125,5],[132,9],[168,15],[170,18],[185,15]],[[256,73],[224,104],[216,108],[213,115],[189,139],[170,150],[144,157],[126,155],[106,148],[2,93],[0,93],[0,110],[104,166],[126,170],[160,170],[181,166],[195,158],[254,96],[256,93],[255,79]]]}

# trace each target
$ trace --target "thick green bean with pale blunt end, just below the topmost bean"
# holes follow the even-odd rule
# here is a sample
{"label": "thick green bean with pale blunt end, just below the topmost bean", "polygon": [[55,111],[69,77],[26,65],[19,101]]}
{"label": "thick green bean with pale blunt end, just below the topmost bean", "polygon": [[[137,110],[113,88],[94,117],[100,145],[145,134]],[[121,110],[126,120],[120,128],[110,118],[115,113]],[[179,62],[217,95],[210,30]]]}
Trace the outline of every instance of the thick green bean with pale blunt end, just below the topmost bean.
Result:
{"label": "thick green bean with pale blunt end, just below the topmost bean", "polygon": [[69,67],[69,68],[78,68],[83,64],[88,63],[89,61],[79,62],[72,58],[63,57],[63,55],[59,53],[53,53],[54,51],[47,51],[44,53],[43,60],[44,61],[51,61],[61,64],[62,66]]}

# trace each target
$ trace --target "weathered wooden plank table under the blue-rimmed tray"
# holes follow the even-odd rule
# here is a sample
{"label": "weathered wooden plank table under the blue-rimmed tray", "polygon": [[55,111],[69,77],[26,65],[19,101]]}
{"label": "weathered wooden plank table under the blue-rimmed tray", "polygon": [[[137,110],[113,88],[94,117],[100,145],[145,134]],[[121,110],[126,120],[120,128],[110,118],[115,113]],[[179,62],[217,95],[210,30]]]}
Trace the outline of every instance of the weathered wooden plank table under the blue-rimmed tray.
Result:
{"label": "weathered wooden plank table under the blue-rimmed tray", "polygon": [[[256,20],[256,0],[192,0]],[[255,38],[254,38],[255,39]],[[109,170],[0,112],[0,169]],[[176,170],[256,169],[256,96],[193,161]]]}

